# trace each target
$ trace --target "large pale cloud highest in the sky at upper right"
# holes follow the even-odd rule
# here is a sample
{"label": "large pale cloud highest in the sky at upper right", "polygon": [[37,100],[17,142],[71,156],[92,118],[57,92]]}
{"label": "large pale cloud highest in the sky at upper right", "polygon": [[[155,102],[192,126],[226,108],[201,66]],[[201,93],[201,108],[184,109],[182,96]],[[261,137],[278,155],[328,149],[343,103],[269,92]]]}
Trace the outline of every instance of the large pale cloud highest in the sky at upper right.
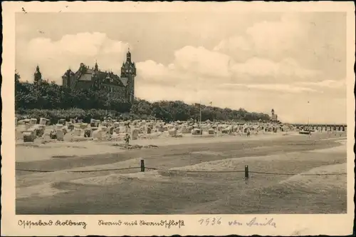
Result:
{"label": "large pale cloud highest in the sky at upper right", "polygon": [[236,61],[251,57],[281,61],[300,54],[309,37],[310,22],[303,21],[303,16],[288,13],[278,21],[258,21],[245,31],[222,39],[214,50],[229,54]]}

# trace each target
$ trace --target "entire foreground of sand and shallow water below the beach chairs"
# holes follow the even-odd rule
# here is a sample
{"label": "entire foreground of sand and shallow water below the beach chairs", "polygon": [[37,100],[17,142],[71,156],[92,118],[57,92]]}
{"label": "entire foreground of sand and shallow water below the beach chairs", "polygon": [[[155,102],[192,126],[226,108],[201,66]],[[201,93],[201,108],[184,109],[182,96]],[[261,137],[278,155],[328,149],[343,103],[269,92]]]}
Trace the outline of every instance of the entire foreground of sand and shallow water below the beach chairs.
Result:
{"label": "entire foreground of sand and shallow water below the beach chairs", "polygon": [[16,169],[53,172],[16,171],[16,213],[342,213],[345,141],[345,133],[278,133],[152,138],[132,145],[157,148],[132,150],[115,141],[18,143]]}

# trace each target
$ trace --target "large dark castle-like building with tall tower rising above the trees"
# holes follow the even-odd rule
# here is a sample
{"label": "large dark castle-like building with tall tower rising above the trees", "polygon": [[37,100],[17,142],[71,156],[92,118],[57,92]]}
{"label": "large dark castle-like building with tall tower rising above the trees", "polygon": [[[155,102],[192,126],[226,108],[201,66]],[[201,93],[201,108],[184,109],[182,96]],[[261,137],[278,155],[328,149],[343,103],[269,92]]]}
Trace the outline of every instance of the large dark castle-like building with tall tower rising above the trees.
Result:
{"label": "large dark castle-like building with tall tower rising above the trees", "polygon": [[63,86],[70,89],[93,89],[108,93],[108,96],[125,99],[131,103],[135,99],[136,66],[131,61],[130,49],[126,62],[122,63],[121,75],[112,71],[100,71],[98,63],[93,68],[80,64],[78,71],[68,69],[62,76]]}

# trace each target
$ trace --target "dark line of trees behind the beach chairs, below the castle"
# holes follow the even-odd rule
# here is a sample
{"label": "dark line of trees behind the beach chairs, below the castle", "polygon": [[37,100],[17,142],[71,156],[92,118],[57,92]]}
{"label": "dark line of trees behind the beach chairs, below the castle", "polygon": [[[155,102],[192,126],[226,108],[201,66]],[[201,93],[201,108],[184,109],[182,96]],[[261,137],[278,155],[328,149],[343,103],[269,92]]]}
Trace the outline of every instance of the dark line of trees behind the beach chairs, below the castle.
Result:
{"label": "dark line of trees behind the beach chairs, below the castle", "polygon": [[111,116],[121,119],[162,119],[163,121],[269,121],[268,114],[248,112],[244,109],[221,109],[201,104],[185,104],[183,101],[156,101],[150,103],[135,99],[130,104],[102,91],[68,89],[55,82],[41,84],[21,82],[15,74],[16,114],[32,118],[104,119]]}

